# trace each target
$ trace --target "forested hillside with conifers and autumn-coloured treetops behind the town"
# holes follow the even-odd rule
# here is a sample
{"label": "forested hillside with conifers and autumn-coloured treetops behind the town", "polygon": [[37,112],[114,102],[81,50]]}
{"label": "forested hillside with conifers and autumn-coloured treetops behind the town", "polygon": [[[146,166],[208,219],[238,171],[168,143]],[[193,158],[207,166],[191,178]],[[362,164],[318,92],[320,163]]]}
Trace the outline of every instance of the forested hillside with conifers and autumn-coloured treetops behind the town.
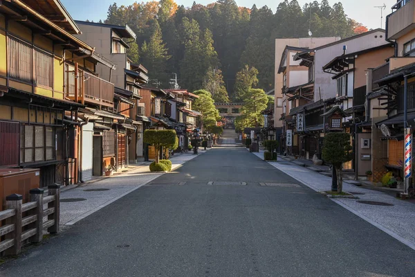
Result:
{"label": "forested hillside with conifers and autumn-coloured treetops behind the town", "polygon": [[169,87],[176,73],[178,84],[190,91],[225,84],[231,100],[235,76],[246,64],[259,71],[258,88],[273,88],[275,38],[308,37],[309,29],[313,37],[342,38],[367,30],[347,17],[342,3],[330,6],[327,0],[261,8],[239,7],[234,0],[194,2],[190,8],[174,0],[113,3],[104,22],[128,24],[136,32],[129,57],[149,69],[151,84]]}

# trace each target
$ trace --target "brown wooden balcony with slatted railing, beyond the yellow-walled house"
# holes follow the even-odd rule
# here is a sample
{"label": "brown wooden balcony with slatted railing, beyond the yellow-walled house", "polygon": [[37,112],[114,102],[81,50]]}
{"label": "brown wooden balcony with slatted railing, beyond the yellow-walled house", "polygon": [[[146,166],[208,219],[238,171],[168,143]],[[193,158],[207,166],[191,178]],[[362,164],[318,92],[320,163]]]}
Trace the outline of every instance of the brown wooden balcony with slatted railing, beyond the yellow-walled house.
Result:
{"label": "brown wooden balcony with slatted railing, beyond the yellow-walled house", "polygon": [[[71,84],[69,81],[67,96],[71,100],[81,102],[84,104],[92,104],[104,107],[114,107],[114,84],[102,80],[101,78],[87,73],[85,71],[78,71],[78,95],[75,96],[75,82]],[[79,82],[79,80],[84,80]]]}

